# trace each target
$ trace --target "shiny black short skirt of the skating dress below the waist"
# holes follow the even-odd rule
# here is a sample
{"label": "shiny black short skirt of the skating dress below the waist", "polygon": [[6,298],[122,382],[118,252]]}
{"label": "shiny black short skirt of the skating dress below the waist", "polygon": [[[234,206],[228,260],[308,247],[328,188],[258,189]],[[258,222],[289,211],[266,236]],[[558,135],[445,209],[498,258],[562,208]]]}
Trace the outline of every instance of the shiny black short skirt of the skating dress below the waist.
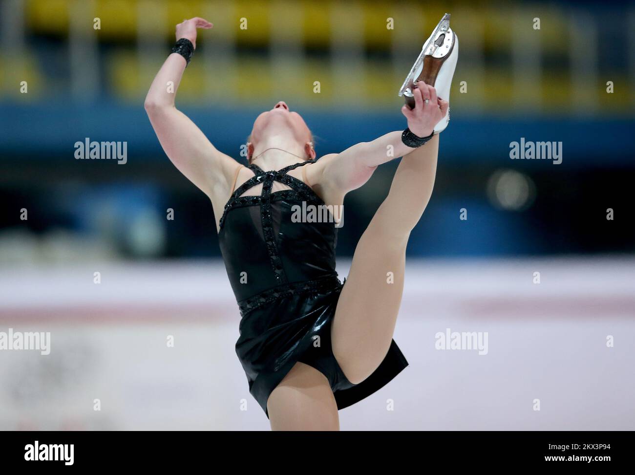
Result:
{"label": "shiny black short skirt of the skating dress below the waist", "polygon": [[368,378],[359,384],[347,380],[331,349],[331,324],[343,286],[336,277],[324,278],[274,288],[239,302],[242,318],[236,354],[250,393],[267,418],[269,394],[298,361],[326,376],[338,410],[378,391],[408,366],[392,340],[384,360]]}

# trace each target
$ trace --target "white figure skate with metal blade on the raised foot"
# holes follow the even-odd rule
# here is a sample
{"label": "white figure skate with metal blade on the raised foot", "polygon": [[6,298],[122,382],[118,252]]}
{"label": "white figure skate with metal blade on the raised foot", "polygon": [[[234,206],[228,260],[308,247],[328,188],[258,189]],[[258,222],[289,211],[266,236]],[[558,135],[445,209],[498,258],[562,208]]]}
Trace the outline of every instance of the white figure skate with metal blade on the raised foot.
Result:
{"label": "white figure skate with metal blade on the raised foot", "polygon": [[[424,48],[399,90],[399,95],[405,98],[406,105],[410,109],[415,107],[413,85],[417,81],[424,81],[425,84],[434,86],[437,96],[449,102],[450,86],[457,60],[458,37],[450,28],[450,13],[446,13],[424,43]],[[446,116],[434,126],[434,132],[439,133],[445,130],[448,122],[450,122],[449,106]]]}

